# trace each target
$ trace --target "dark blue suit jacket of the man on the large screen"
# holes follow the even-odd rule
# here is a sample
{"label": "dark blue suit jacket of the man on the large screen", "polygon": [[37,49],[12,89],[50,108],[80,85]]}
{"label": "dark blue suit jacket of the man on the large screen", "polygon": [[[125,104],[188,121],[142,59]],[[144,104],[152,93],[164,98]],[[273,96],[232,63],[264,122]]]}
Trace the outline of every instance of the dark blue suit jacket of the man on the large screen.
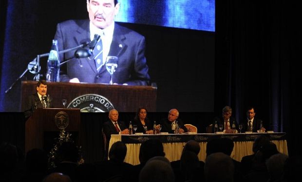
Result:
{"label": "dark blue suit jacket of the man on the large screen", "polygon": [[[89,19],[67,20],[57,24],[55,39],[58,49],[67,50],[82,43],[90,42]],[[60,54],[60,60],[74,57],[75,51]],[[118,57],[118,66],[113,74],[113,83],[129,85],[148,85],[150,76],[145,58],[145,37],[115,23],[113,40],[108,56]],[[95,62],[88,58],[73,58],[62,65],[61,82],[78,78],[81,83],[109,83],[110,74],[106,66],[96,71]]]}

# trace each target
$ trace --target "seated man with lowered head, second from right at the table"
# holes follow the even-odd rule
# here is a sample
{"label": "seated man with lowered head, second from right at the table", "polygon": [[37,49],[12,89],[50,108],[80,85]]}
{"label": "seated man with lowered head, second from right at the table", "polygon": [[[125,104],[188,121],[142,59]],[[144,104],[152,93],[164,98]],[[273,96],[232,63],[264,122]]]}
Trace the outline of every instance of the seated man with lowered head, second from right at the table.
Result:
{"label": "seated man with lowered head, second from right at the table", "polygon": [[[232,116],[232,108],[230,106],[225,106],[222,109],[222,116],[221,117],[215,117],[213,121],[213,126],[215,126],[215,121],[217,121],[218,126],[223,126],[223,132],[225,133],[233,133],[233,127],[232,125],[235,124],[235,133],[238,132],[238,123],[235,121],[235,118]],[[214,133],[214,127],[212,127],[212,132]]]}

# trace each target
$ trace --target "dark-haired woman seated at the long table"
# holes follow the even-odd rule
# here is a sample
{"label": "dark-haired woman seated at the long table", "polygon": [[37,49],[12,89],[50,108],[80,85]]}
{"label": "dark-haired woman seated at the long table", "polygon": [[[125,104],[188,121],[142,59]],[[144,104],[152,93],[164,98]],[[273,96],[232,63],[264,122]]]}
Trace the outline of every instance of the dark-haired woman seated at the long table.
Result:
{"label": "dark-haired woman seated at the long table", "polygon": [[133,124],[137,125],[136,132],[142,132],[144,134],[153,134],[153,123],[151,123],[147,117],[146,108],[138,108],[134,117]]}

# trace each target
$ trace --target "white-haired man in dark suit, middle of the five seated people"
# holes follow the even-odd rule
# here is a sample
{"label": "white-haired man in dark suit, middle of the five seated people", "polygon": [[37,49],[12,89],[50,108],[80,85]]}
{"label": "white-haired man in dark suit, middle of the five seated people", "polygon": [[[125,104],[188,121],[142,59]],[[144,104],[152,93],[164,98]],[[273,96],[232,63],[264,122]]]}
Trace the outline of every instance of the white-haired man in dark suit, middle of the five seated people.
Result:
{"label": "white-haired man in dark suit, middle of the five seated people", "polygon": [[161,132],[169,132],[169,133],[174,133],[175,132],[175,127],[176,127],[176,122],[179,127],[179,133],[183,132],[188,132],[187,128],[184,125],[184,122],[178,118],[179,112],[177,109],[171,109],[169,111],[168,118],[162,119],[160,124],[162,125]]}

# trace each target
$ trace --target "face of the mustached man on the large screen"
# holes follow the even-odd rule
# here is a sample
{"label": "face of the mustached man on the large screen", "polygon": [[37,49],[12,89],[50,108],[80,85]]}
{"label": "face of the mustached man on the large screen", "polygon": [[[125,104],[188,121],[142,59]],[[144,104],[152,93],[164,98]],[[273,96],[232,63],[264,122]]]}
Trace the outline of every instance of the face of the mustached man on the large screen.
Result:
{"label": "face of the mustached man on the large screen", "polygon": [[114,22],[119,10],[119,3],[114,0],[87,0],[90,21],[98,28],[105,29]]}

